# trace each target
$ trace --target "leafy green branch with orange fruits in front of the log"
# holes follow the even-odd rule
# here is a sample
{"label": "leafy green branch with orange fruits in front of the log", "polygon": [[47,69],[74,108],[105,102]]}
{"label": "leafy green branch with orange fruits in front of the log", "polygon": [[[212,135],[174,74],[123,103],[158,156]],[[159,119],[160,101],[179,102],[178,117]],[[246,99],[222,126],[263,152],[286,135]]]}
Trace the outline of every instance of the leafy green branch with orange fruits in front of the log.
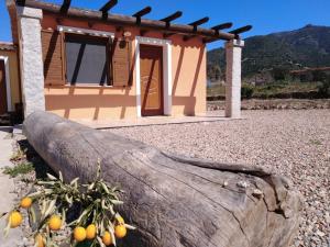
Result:
{"label": "leafy green branch with orange fruits in front of the log", "polygon": [[[66,183],[61,171],[58,178],[47,173],[46,180],[35,182],[36,191],[26,195],[33,204],[26,209],[31,225],[34,225],[32,235],[41,236],[41,240],[35,240],[36,247],[43,247],[44,244],[58,247],[63,242],[69,242],[70,246],[75,246],[86,238],[85,228],[81,229],[81,227],[91,224],[95,226],[95,236],[91,234],[92,236],[88,238],[90,247],[105,247],[109,243],[116,246],[116,239],[124,237],[127,228],[135,228],[124,223],[122,216],[116,212],[116,206],[123,204],[120,200],[120,193],[123,191],[117,187],[109,187],[101,178],[100,160],[97,165],[97,175],[94,181],[88,183],[79,183],[79,178]],[[20,206],[15,206],[14,211],[20,212]],[[52,225],[54,215],[57,215],[59,227]],[[10,217],[9,215],[4,229],[7,233],[12,227]],[[72,238],[56,240],[57,231],[74,227],[79,227],[80,233],[77,232],[77,235],[74,233]],[[107,234],[110,234],[108,240],[105,239]]]}

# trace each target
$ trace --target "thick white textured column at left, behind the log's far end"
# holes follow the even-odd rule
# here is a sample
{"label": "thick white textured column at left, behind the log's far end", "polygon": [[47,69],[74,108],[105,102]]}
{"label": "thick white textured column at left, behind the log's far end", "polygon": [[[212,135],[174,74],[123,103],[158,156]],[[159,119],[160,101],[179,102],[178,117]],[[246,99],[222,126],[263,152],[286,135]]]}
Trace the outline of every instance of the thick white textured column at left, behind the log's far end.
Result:
{"label": "thick white textured column at left, behind the log's far end", "polygon": [[40,9],[18,7],[20,63],[24,116],[45,110],[44,66],[41,43]]}

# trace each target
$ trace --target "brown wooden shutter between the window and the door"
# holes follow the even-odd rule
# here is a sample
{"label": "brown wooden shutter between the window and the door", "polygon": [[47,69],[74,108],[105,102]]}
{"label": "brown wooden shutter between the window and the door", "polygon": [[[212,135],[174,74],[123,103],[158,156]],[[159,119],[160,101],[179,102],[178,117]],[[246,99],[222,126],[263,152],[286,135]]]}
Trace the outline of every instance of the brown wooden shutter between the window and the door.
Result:
{"label": "brown wooden shutter between the window and the door", "polygon": [[112,44],[112,72],[116,87],[132,85],[131,71],[131,41],[114,38]]}

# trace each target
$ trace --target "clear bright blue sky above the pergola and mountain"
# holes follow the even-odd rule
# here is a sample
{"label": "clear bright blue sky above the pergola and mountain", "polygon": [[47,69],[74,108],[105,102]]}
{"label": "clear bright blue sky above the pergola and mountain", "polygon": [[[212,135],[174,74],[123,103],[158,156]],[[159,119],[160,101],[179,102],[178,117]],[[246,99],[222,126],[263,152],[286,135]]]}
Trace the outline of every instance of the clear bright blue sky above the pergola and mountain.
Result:
{"label": "clear bright blue sky above the pergola and mountain", "polygon": [[[61,0],[47,0],[61,3]],[[73,0],[72,5],[99,9],[107,0]],[[330,0],[119,0],[112,9],[114,13],[132,14],[151,5],[148,19],[161,19],[180,10],[183,16],[176,22],[189,23],[209,16],[205,26],[233,22],[234,27],[252,24],[253,30],[244,37],[273,32],[295,30],[306,24],[330,26]],[[6,0],[0,0],[0,41],[11,41],[10,22]],[[221,42],[208,48],[222,46]]]}

